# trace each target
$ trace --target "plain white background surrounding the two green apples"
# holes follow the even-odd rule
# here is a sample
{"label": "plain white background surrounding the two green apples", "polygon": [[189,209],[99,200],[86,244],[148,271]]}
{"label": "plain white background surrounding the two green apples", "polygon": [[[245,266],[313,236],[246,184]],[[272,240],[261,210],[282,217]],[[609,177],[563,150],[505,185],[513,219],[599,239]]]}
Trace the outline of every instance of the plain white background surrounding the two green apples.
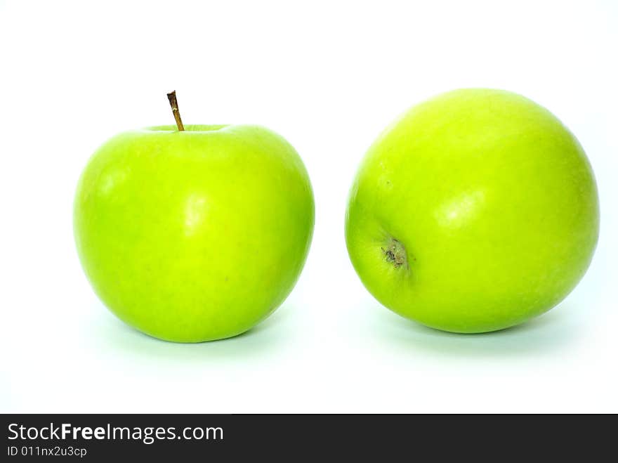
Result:
{"label": "plain white background surrounding the two green apples", "polygon": [[[1,412],[618,412],[618,2],[0,1]],[[550,313],[485,335],[381,307],[343,214],[368,145],[435,93],[510,89],[572,129],[598,179],[593,265]],[[257,123],[303,157],[316,224],[289,299],[251,332],[170,344],[96,299],[77,178],[119,131]]]}

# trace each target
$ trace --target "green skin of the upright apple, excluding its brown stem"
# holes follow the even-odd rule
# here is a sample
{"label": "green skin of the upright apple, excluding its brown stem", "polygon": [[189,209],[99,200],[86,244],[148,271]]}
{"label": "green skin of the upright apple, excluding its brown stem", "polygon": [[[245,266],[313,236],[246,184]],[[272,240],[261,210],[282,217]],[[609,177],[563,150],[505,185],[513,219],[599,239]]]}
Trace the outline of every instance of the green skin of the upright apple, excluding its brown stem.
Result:
{"label": "green skin of the upright apple, excluding its brown stem", "polygon": [[232,337],[270,315],[301,273],[313,223],[301,158],[248,125],[121,133],[91,157],[74,202],[96,294],[167,341]]}

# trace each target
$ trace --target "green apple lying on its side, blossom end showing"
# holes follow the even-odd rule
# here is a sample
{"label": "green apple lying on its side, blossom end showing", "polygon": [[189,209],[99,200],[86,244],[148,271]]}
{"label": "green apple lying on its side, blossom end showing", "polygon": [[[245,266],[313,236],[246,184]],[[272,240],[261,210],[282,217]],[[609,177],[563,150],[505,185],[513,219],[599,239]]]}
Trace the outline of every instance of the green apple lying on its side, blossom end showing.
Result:
{"label": "green apple lying on its side, blossom end showing", "polygon": [[351,188],[346,243],[384,306],[449,332],[501,330],[577,285],[598,240],[577,139],[515,93],[461,89],[402,115]]}

